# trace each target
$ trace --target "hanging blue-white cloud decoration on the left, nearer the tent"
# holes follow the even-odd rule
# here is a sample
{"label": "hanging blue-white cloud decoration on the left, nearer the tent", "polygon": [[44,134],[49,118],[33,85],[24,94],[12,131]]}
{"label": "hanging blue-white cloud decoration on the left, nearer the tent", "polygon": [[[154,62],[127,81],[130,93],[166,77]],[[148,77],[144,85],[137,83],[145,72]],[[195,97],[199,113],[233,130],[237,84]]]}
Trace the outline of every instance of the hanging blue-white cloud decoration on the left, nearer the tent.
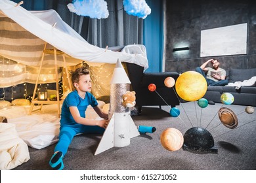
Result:
{"label": "hanging blue-white cloud decoration on the left, nearer the tent", "polygon": [[90,18],[108,18],[109,15],[108,6],[104,0],[73,0],[67,6],[70,12]]}

